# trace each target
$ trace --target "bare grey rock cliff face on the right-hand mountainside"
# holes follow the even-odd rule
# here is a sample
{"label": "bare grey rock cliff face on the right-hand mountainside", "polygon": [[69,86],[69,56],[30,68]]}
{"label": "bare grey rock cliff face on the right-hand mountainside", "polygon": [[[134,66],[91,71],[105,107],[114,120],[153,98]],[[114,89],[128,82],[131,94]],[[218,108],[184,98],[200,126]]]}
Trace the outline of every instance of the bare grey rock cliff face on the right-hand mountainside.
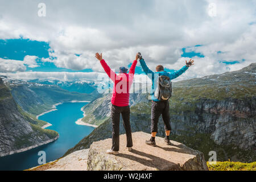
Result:
{"label": "bare grey rock cliff face on the right-hand mountainside", "polygon": [[216,144],[233,144],[243,150],[256,150],[255,104],[256,97],[221,101],[202,99],[190,118],[191,121],[200,121],[193,126],[197,124],[195,127],[200,133],[210,133]]}

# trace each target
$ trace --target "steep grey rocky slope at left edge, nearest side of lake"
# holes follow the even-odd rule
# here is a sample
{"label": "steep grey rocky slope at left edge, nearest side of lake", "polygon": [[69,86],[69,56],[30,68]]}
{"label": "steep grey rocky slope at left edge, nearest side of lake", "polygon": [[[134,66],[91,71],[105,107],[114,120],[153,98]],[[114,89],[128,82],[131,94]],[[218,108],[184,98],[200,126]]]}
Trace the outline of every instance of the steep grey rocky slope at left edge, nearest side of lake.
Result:
{"label": "steep grey rocky slope at left edge, nearest side of lake", "polygon": [[59,134],[42,129],[44,124],[46,122],[39,121],[16,104],[10,89],[0,78],[0,156],[22,152],[56,140]]}

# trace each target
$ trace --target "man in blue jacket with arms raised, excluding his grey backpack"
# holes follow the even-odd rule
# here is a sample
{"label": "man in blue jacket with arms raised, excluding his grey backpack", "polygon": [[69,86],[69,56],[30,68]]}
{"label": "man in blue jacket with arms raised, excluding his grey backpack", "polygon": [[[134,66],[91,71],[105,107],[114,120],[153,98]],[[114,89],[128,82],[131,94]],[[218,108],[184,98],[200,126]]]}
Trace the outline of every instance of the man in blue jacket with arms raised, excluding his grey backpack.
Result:
{"label": "man in blue jacket with arms raised, excluding his grey backpack", "polygon": [[193,65],[194,60],[190,60],[188,63],[185,62],[186,65],[182,67],[179,71],[176,71],[174,73],[168,73],[164,71],[164,67],[162,65],[158,65],[156,67],[156,72],[152,72],[146,65],[144,59],[140,59],[139,62],[141,63],[142,69],[144,73],[147,74],[148,77],[152,80],[152,89],[151,89],[151,99],[152,99],[152,105],[151,105],[151,139],[146,140],[146,144],[150,146],[156,146],[155,143],[155,136],[158,132],[158,121],[159,117],[162,114],[162,118],[164,121],[164,129],[166,131],[166,138],[164,138],[164,141],[171,145],[170,142],[170,132],[171,132],[171,125],[170,125],[170,114],[169,114],[169,101],[160,101],[158,98],[155,97],[154,92],[156,88],[156,80],[158,80],[158,76],[167,76],[170,78],[170,80],[173,80],[177,77],[179,77],[182,73],[184,73],[191,65]]}

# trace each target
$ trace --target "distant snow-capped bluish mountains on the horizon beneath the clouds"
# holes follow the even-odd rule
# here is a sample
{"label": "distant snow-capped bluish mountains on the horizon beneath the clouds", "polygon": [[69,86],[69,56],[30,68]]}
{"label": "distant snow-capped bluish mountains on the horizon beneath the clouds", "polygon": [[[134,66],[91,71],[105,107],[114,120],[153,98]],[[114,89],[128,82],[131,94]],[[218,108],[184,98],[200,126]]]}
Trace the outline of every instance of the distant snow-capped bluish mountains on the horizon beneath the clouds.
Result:
{"label": "distant snow-capped bluish mountains on the horizon beneath the clouds", "polygon": [[29,80],[30,82],[35,82],[44,85],[57,85],[64,90],[69,92],[79,92],[79,93],[93,93],[97,90],[97,82],[93,81],[60,81],[51,79],[34,79]]}

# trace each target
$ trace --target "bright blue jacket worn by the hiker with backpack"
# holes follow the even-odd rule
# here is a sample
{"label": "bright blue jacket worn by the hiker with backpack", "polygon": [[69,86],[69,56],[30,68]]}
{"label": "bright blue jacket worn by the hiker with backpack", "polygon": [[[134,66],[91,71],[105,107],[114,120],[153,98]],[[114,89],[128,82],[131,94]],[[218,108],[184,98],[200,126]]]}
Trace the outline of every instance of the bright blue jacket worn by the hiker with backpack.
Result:
{"label": "bright blue jacket worn by the hiker with backpack", "polygon": [[184,66],[179,71],[176,71],[174,73],[168,73],[166,71],[152,72],[147,67],[147,65],[143,59],[139,60],[139,62],[141,63],[144,73],[146,73],[146,75],[152,80],[151,99],[156,102],[159,102],[159,100],[154,96],[155,84],[156,84],[156,81],[158,80],[157,79],[158,76],[168,76],[168,77],[170,77],[171,80],[173,80],[173,79],[179,77],[182,73],[184,73],[188,69],[188,67]]}

